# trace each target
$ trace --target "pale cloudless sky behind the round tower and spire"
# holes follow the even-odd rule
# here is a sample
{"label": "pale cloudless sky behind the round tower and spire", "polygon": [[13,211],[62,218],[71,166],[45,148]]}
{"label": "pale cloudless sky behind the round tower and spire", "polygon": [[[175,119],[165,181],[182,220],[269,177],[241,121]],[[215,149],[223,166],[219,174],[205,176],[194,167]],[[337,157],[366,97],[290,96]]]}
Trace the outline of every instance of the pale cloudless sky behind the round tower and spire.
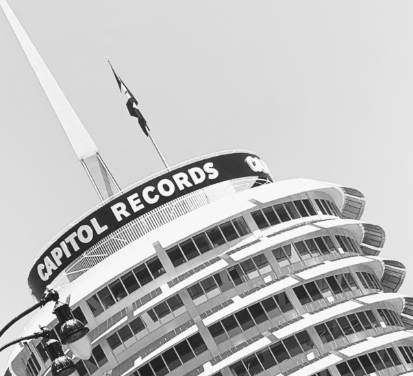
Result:
{"label": "pale cloudless sky behind the round tower and spire", "polygon": [[[17,1],[10,5],[121,187],[162,169],[105,56],[170,164],[253,150],[277,180],[341,183],[405,264],[412,230],[411,1]],[[97,204],[0,11],[0,326],[29,307],[49,239]],[[3,342],[16,338],[25,321]],[[9,352],[0,355],[0,373]]]}

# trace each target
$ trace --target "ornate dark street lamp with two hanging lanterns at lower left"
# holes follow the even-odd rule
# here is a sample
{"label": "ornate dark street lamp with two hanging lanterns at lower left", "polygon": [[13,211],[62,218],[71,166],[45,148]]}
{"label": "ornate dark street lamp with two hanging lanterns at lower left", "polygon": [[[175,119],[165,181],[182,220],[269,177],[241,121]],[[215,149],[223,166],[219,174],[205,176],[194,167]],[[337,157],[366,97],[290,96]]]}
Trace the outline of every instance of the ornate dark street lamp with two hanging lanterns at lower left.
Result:
{"label": "ornate dark street lamp with two hanging lanterns at lower left", "polygon": [[[90,343],[90,338],[88,336],[88,327],[86,327],[81,321],[75,319],[68,304],[61,303],[59,301],[58,292],[51,288],[47,289],[38,303],[14,317],[14,319],[5,325],[5,327],[0,330],[0,337],[6,330],[8,330],[9,327],[16,323],[16,321],[22,319],[30,312],[33,312],[36,308],[45,306],[45,304],[49,301],[55,301],[53,313],[56,315],[61,325],[60,338],[62,338],[62,343],[67,345],[67,347],[77,358],[83,360],[89,359],[92,355],[92,344]],[[6,343],[3,347],[0,347],[0,351],[3,351],[16,343],[20,343],[23,340],[48,338],[45,344],[45,349],[51,360],[51,376],[79,376],[73,360],[64,355],[62,344],[58,340],[50,338],[50,330],[47,329],[47,327],[42,327],[40,329],[40,332],[17,338],[16,340]]]}

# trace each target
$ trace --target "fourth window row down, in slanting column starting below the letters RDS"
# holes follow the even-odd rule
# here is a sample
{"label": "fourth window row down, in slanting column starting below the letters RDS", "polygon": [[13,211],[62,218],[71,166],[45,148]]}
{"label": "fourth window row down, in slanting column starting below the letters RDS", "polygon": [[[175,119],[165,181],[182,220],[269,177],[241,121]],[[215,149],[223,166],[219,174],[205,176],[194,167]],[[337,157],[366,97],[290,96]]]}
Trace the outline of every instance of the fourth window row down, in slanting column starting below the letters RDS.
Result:
{"label": "fourth window row down, in slanting column starting below the letters RDS", "polygon": [[307,331],[303,330],[247,356],[229,368],[236,376],[254,376],[312,348],[314,344]]}

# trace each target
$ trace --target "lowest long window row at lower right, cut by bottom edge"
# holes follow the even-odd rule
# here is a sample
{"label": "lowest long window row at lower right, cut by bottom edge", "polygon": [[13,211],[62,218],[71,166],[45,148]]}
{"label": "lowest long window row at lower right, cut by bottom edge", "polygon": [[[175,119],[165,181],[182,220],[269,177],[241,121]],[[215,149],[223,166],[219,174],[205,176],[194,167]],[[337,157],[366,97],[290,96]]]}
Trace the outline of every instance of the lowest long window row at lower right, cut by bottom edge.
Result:
{"label": "lowest long window row at lower right, cut by bottom edge", "polygon": [[349,359],[336,365],[341,376],[363,376],[381,371],[384,368],[401,364],[396,351],[392,347]]}

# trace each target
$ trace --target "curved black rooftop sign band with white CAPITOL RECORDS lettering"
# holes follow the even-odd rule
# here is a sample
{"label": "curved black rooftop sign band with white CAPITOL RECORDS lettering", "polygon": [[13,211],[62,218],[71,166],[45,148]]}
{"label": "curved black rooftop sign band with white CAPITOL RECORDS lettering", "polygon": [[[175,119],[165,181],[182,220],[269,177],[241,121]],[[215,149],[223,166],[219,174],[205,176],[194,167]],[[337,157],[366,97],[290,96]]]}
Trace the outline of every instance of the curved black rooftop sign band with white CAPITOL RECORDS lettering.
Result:
{"label": "curved black rooftop sign band with white CAPITOL RECORDS lettering", "polygon": [[243,152],[190,163],[123,193],[79,221],[48,247],[29,273],[29,287],[39,299],[45,287],[68,265],[114,230],[188,193],[247,176],[272,181],[264,161]]}

